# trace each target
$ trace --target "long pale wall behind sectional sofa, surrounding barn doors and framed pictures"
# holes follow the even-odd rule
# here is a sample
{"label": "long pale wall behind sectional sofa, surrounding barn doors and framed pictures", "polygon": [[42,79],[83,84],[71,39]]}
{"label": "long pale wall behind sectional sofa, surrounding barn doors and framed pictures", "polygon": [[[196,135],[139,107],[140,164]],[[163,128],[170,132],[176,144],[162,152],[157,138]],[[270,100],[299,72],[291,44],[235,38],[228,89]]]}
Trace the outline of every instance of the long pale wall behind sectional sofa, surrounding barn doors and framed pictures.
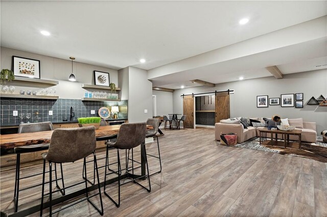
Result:
{"label": "long pale wall behind sectional sofa, surrounding barn doors and framed pictures", "polygon": [[[235,90],[230,95],[231,117],[271,117],[274,114],[282,118],[303,118],[303,121],[317,123],[317,134],[327,129],[327,107],[307,105],[312,96],[322,94],[327,97],[327,70],[316,70],[284,75],[283,79],[264,77],[238,82],[217,84],[214,88],[196,87],[175,90],[173,94],[174,113],[183,112],[183,102],[180,95],[201,93],[215,90]],[[269,98],[281,97],[281,94],[303,93],[303,108],[281,107],[269,105],[268,108],[256,107],[257,95],[268,95]],[[317,108],[317,109],[316,109]]]}

